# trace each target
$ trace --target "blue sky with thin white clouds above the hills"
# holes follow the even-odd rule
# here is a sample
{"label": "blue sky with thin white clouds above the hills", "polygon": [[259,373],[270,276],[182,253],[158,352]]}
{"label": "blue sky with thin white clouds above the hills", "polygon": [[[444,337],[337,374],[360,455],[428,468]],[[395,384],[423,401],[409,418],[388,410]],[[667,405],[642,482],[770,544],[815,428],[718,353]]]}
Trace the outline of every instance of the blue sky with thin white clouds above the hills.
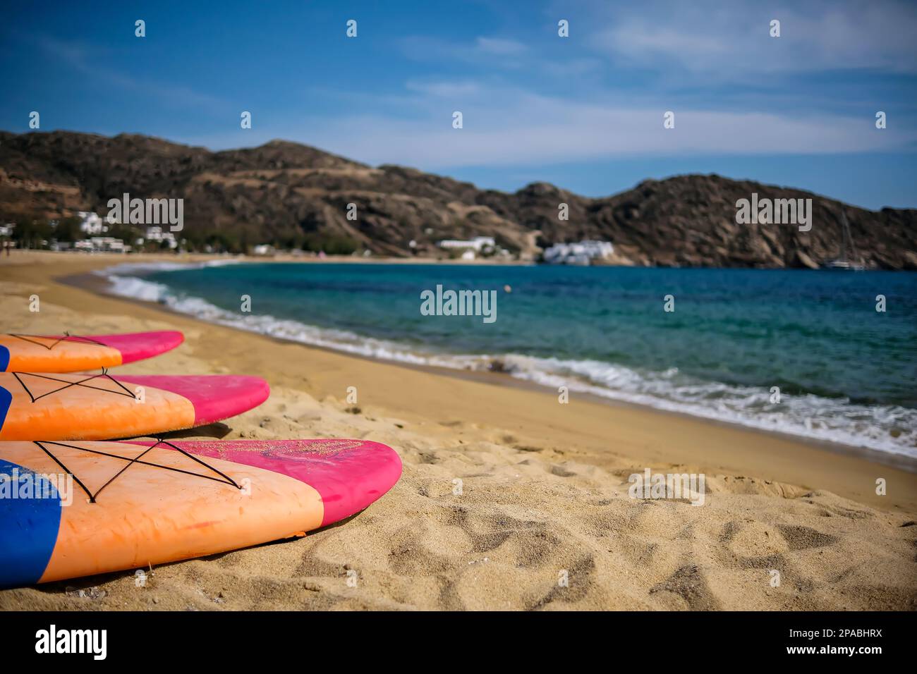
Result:
{"label": "blue sky with thin white clouds above the hills", "polygon": [[917,3],[20,2],[4,13],[0,128],[14,132],[37,110],[43,131],[211,149],[285,138],[507,191],[547,181],[598,196],[717,172],[917,206]]}

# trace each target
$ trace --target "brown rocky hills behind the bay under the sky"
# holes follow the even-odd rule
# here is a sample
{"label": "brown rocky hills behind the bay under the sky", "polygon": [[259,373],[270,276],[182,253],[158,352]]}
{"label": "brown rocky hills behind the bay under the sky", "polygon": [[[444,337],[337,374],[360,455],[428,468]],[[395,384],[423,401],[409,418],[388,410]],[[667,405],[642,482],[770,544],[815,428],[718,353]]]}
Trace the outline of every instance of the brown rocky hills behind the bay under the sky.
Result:
{"label": "brown rocky hills behind the bay under the sky", "polygon": [[[524,255],[580,238],[613,241],[620,264],[802,267],[836,257],[841,213],[856,255],[880,269],[917,269],[917,209],[868,211],[827,197],[718,175],[647,180],[592,199],[536,182],[516,193],[401,166],[372,168],[297,143],[212,152],[159,138],[55,131],[0,132],[0,217],[107,213],[108,199],[182,197],[182,237],[245,249],[351,248],[408,256],[440,254],[442,238],[494,236]],[[737,225],[735,203],[812,198],[812,230]],[[558,204],[569,219],[558,219]],[[358,219],[348,220],[348,204]],[[412,251],[409,241],[414,240]]]}

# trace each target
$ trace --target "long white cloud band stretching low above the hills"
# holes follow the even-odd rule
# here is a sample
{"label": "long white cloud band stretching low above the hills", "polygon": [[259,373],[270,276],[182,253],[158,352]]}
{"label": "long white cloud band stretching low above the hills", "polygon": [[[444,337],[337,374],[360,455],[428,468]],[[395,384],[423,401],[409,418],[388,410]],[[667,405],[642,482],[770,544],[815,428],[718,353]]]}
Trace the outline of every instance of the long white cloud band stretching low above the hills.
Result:
{"label": "long white cloud band stretching low above the hills", "polygon": [[[479,87],[457,103],[449,90],[448,83],[431,85],[423,101],[413,99],[409,118],[312,119],[299,127],[302,134],[291,137],[288,126],[280,135],[370,164],[426,170],[627,156],[900,150],[917,142],[912,126],[879,131],[868,117],[676,109],[675,128],[665,129],[668,108],[662,105],[628,106],[613,98],[586,104],[495,87]],[[462,111],[464,128],[451,127],[454,109]]]}

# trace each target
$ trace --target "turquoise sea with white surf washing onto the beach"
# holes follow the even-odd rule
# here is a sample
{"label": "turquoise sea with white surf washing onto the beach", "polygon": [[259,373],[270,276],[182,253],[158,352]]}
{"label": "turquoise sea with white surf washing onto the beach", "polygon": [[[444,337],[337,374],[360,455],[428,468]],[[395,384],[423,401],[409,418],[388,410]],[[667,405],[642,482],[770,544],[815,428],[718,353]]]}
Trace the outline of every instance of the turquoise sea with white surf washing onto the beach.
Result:
{"label": "turquoise sea with white surf washing onto the beach", "polygon": [[[275,337],[917,458],[917,273],[238,263],[105,274],[116,293]],[[436,285],[496,291],[496,320],[422,315]]]}

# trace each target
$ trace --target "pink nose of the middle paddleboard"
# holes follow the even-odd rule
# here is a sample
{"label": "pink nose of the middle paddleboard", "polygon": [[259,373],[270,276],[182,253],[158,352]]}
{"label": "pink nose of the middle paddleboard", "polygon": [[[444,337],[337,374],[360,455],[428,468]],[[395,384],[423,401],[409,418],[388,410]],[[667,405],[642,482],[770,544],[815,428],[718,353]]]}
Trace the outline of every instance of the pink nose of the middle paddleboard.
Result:
{"label": "pink nose of the middle paddleboard", "polygon": [[238,374],[118,375],[116,380],[178,393],[194,405],[194,425],[212,424],[248,412],[271,394],[267,381]]}

